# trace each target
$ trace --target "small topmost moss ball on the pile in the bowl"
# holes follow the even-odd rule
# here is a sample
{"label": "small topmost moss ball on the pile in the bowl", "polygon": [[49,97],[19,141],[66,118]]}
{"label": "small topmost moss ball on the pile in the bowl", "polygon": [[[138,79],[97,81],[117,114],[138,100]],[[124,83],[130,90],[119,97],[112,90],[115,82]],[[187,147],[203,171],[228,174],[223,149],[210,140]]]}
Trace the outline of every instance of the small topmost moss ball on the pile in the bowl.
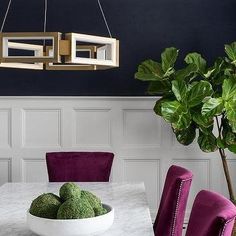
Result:
{"label": "small topmost moss ball on the pile in the bowl", "polygon": [[61,199],[66,201],[70,198],[80,198],[81,190],[75,183],[65,183],[61,186],[59,194]]}

